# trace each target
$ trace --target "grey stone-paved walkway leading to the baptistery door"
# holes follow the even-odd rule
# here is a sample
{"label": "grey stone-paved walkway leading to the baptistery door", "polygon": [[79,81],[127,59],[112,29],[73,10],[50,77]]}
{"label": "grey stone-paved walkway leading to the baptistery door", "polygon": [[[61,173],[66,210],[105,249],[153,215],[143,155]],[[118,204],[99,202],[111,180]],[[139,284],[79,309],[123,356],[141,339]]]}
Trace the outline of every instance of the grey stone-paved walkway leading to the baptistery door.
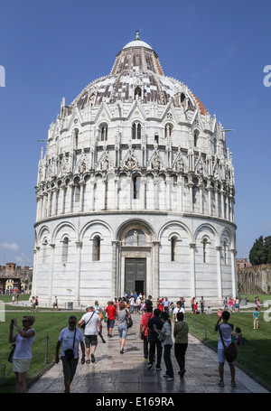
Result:
{"label": "grey stone-paved walkway leading to the baptistery door", "polygon": [[[172,350],[174,380],[166,381],[162,370],[147,369],[143,357],[143,342],[138,338],[141,316],[134,314],[134,326],[128,331],[125,353],[119,353],[117,326],[113,338],[106,344],[98,340],[95,363],[81,365],[71,384],[72,393],[268,393],[269,391],[236,368],[237,388],[230,387],[229,366],[225,364],[225,388],[218,386],[217,353],[192,334],[186,351],[186,373],[178,374],[178,364]],[[106,327],[103,327],[106,332]],[[64,378],[61,361],[39,378],[29,393],[63,393]]]}

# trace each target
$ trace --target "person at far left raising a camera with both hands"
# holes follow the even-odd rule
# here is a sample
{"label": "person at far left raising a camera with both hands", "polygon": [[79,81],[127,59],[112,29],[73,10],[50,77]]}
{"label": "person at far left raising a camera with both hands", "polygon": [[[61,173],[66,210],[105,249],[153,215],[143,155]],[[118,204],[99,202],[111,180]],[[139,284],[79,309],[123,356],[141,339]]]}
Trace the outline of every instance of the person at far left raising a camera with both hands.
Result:
{"label": "person at far left raising a camera with both hands", "polygon": [[[16,392],[26,393],[25,382],[27,371],[30,369],[32,360],[32,345],[35,337],[35,330],[32,328],[35,318],[32,315],[23,316],[23,328],[20,327],[14,318],[10,323],[9,342],[15,342],[13,357],[13,371],[16,379]],[[14,335],[14,327],[17,333]]]}

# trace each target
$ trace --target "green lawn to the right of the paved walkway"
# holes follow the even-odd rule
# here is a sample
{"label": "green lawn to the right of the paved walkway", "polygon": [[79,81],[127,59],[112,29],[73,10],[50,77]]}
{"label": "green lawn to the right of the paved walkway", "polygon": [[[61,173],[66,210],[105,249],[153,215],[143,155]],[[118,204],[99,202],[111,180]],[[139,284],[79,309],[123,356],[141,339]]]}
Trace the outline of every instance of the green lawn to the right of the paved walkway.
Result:
{"label": "green lawn to the right of the paved walkway", "polygon": [[[271,322],[266,322],[263,314],[260,313],[258,330],[253,329],[252,313],[231,314],[229,322],[234,324],[234,330],[239,327],[243,337],[248,341],[243,346],[243,362],[241,362],[240,347],[238,347],[237,362],[271,386]],[[186,317],[190,331],[217,349],[219,336],[218,332],[214,331],[218,320],[217,313],[212,315],[187,313]]]}

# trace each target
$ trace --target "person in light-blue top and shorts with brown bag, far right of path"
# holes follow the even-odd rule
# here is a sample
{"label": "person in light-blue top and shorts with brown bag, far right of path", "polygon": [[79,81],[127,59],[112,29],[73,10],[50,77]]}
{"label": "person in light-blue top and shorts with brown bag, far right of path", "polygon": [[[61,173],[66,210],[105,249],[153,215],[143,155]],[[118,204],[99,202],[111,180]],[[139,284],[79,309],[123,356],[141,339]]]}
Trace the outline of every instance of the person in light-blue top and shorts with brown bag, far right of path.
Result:
{"label": "person in light-blue top and shorts with brown bag, far right of path", "polygon": [[[215,331],[216,332],[220,331],[219,343],[218,343],[218,359],[219,359],[219,373],[220,373],[219,386],[222,388],[225,387],[225,384],[224,384],[224,364],[225,364],[224,344],[226,348],[229,346],[229,344],[231,343],[231,333],[233,332],[233,324],[229,324],[229,317],[230,317],[229,311],[223,311],[215,325]],[[221,325],[220,325],[220,321],[222,321]],[[224,344],[221,338],[223,339]],[[233,362],[229,362],[229,370],[230,370],[230,376],[231,376],[230,385],[232,388],[235,388],[236,387],[235,366]]]}

